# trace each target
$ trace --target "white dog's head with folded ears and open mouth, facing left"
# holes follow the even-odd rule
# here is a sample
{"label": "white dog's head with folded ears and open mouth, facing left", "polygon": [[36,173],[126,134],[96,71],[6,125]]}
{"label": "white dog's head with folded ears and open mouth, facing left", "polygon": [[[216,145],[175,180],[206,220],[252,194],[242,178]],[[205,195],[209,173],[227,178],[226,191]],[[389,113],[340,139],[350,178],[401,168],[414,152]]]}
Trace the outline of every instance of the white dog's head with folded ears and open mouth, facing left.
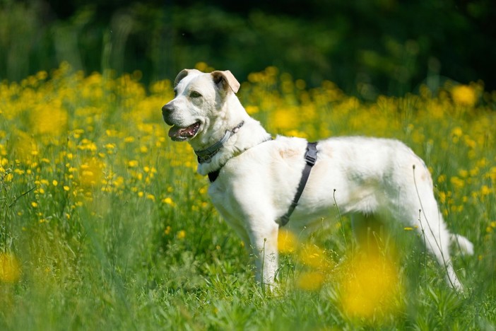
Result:
{"label": "white dog's head with folded ears and open mouth, facing left", "polygon": [[205,74],[196,69],[184,69],[175,79],[175,98],[162,108],[165,122],[172,127],[169,137],[187,141],[206,132],[221,115],[223,101],[237,93],[240,83],[230,71]]}

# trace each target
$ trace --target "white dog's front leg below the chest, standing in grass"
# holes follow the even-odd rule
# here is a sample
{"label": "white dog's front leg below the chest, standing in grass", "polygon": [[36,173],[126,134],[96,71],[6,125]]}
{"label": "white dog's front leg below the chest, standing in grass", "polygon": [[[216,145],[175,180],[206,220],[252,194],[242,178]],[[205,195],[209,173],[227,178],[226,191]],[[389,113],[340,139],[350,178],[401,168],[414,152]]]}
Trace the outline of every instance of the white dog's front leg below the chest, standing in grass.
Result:
{"label": "white dog's front leg below the chest, standing in grass", "polygon": [[249,231],[256,260],[256,280],[273,289],[278,269],[278,224],[258,225]]}

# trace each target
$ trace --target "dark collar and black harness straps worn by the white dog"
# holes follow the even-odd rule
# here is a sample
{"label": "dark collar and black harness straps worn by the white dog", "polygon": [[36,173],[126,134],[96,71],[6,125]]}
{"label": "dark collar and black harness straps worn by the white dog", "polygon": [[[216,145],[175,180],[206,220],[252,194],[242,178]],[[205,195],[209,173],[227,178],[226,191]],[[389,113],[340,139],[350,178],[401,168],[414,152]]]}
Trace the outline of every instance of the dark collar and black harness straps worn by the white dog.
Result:
{"label": "dark collar and black harness straps worn by the white dog", "polygon": [[[224,137],[222,137],[212,146],[206,149],[202,149],[201,151],[194,151],[194,153],[196,153],[196,156],[198,157],[198,163],[209,163],[212,160],[213,156],[215,156],[215,154],[223,148],[225,141],[228,141],[228,139],[233,134],[235,134],[240,129],[240,127],[243,126],[243,124],[244,122],[241,122],[231,130],[226,131]],[[272,138],[265,139],[264,141],[261,141],[261,143],[264,143],[265,141],[271,139]],[[302,177],[300,178],[300,183],[298,184],[293,202],[291,202],[288,212],[281,216],[281,219],[276,220],[276,223],[278,223],[280,227],[285,226],[288,223],[291,214],[293,214],[293,211],[295,211],[295,208],[298,205],[298,201],[302,196],[303,190],[305,190],[305,185],[307,185],[307,180],[309,178],[310,172],[312,171],[312,167],[314,166],[315,162],[317,162],[317,142],[307,143],[307,151],[305,151],[305,161],[305,168],[303,168]],[[210,180],[210,182],[215,182],[222,167],[223,165],[221,165],[220,168],[218,168],[217,170],[213,170],[212,172],[208,173],[208,180]]]}

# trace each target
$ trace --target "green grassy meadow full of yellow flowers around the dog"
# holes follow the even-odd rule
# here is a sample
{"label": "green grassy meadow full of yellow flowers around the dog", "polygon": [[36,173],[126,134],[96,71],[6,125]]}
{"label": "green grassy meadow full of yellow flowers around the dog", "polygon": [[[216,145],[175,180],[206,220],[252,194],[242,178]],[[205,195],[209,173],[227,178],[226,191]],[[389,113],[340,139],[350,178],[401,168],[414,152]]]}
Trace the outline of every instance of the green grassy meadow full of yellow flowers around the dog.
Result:
{"label": "green grassy meadow full of yellow flowers around the dog", "polygon": [[495,330],[496,93],[482,82],[364,102],[274,67],[249,74],[239,97],[274,135],[411,146],[449,229],[475,246],[453,247],[456,293],[412,228],[361,252],[342,216],[305,241],[281,233],[270,293],[193,151],[167,137],[172,83],[140,79],[62,64],[0,83],[0,330]]}

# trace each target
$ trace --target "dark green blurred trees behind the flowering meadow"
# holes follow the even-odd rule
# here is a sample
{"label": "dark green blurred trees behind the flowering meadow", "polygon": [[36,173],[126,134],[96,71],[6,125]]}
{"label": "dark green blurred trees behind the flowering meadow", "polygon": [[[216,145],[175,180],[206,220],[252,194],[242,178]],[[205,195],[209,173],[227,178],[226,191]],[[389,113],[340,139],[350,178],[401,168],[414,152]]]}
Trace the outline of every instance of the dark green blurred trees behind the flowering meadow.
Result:
{"label": "dark green blurred trees behind the flowering meadow", "polygon": [[66,61],[150,83],[206,62],[373,100],[446,79],[496,90],[495,59],[494,0],[0,0],[0,80]]}

